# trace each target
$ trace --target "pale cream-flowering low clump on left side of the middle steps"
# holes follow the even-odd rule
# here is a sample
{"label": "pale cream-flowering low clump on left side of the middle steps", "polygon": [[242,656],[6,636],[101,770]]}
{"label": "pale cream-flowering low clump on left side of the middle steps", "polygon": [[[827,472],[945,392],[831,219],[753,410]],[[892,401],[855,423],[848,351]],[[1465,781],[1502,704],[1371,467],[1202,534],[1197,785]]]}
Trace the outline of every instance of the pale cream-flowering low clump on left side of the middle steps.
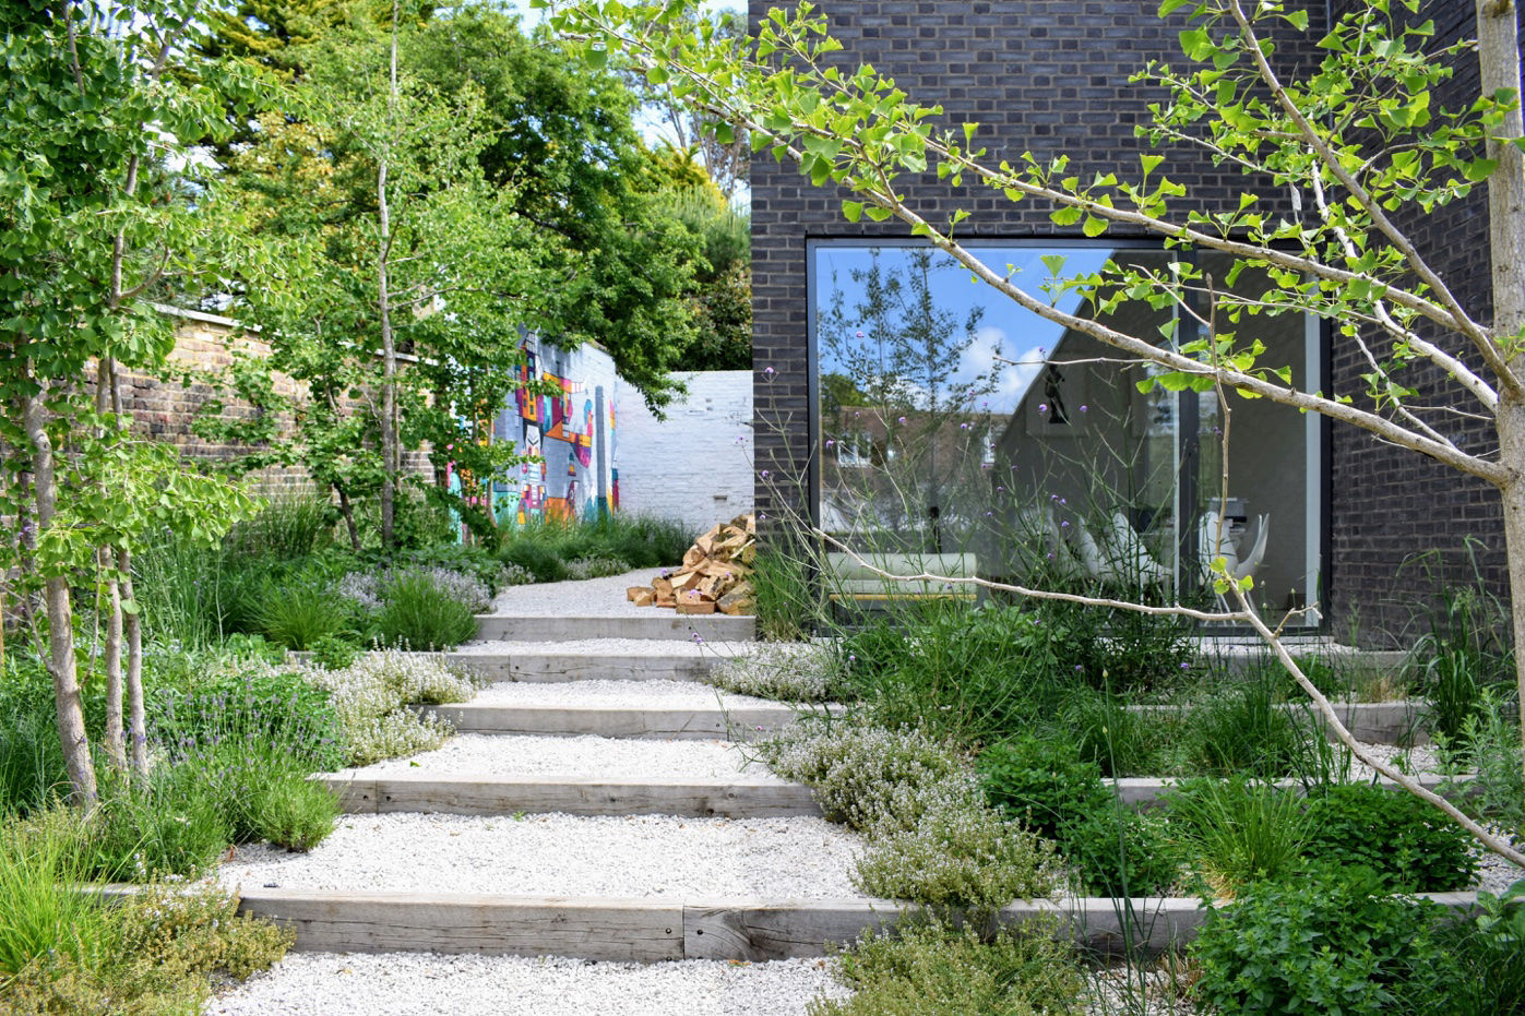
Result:
{"label": "pale cream-flowering low clump on left side of the middle steps", "polygon": [[451,726],[409,705],[468,702],[477,688],[471,677],[451,671],[444,658],[392,648],[366,653],[343,670],[314,670],[311,680],[329,694],[349,766],[439,748]]}

